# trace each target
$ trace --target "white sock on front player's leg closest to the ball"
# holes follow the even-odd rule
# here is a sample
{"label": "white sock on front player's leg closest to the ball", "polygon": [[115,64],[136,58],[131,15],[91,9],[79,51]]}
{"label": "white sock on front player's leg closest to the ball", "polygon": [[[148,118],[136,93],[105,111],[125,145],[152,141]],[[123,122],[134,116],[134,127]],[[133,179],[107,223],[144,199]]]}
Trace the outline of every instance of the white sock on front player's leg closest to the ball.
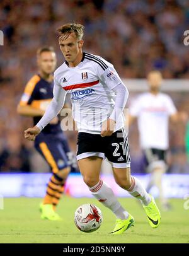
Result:
{"label": "white sock on front player's leg closest to the ball", "polygon": [[100,180],[94,187],[89,187],[94,197],[104,206],[108,207],[118,219],[127,219],[129,213],[121,206],[117,198],[113,194],[112,189]]}

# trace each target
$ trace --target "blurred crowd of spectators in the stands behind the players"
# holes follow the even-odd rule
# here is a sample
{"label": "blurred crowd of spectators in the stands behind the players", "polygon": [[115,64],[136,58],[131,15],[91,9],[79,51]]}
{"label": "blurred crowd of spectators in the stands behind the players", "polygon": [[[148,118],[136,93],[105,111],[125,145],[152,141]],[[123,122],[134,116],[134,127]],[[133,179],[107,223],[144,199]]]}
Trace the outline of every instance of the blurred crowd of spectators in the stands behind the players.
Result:
{"label": "blurred crowd of spectators in the stands behind the players", "polygon": [[[187,0],[1,0],[0,172],[41,170],[41,160],[33,161],[38,157],[33,144],[23,138],[31,119],[19,117],[16,105],[37,72],[38,47],[52,45],[58,65],[62,63],[56,29],[73,21],[85,26],[84,50],[112,62],[122,78],[146,78],[151,69],[159,69],[168,79],[189,78],[189,48],[183,44],[189,24]],[[183,95],[173,96],[176,107],[189,109]],[[179,135],[184,133],[183,125],[171,129],[173,172],[186,172],[184,139]],[[67,136],[75,150],[76,132]],[[133,159],[138,159],[134,136],[130,145]]]}

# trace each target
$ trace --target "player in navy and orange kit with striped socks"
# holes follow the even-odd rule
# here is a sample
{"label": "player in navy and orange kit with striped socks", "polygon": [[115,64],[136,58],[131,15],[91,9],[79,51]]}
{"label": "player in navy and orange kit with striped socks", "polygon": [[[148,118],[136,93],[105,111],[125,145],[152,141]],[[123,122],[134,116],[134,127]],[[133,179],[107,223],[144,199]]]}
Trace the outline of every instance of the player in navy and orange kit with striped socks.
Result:
{"label": "player in navy and orange kit with striped socks", "polygon": [[[26,84],[25,91],[18,105],[18,113],[33,117],[34,124],[41,119],[47,105],[53,97],[54,79],[57,59],[52,47],[43,47],[37,51],[38,74]],[[74,168],[74,155],[70,151],[66,136],[60,128],[59,117],[54,117],[35,140],[35,149],[49,164],[52,177],[47,185],[47,192],[40,205],[42,219],[59,220],[55,212],[64,192],[67,175]],[[76,164],[76,160],[75,160]]]}

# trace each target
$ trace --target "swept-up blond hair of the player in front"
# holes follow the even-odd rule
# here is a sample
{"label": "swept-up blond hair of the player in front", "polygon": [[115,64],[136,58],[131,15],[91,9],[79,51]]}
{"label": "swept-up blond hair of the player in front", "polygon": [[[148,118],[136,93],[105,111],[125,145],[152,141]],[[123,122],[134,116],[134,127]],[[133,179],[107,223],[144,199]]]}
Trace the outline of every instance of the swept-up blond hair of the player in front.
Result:
{"label": "swept-up blond hair of the player in front", "polygon": [[57,29],[59,40],[66,40],[69,35],[74,32],[77,40],[80,41],[83,38],[84,26],[76,23],[67,23]]}

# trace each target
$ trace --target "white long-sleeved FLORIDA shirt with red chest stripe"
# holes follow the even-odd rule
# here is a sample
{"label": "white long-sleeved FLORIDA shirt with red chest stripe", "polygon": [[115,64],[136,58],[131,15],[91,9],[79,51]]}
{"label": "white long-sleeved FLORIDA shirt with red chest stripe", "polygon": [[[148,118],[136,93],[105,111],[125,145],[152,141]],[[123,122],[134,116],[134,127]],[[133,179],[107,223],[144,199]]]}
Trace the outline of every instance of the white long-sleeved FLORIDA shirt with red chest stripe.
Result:
{"label": "white long-sleeved FLORIDA shirt with red chest stripe", "polygon": [[79,132],[100,134],[102,123],[116,121],[115,131],[124,126],[123,108],[129,92],[114,67],[105,59],[83,53],[76,67],[65,61],[54,73],[54,98],[37,127],[42,130],[64,105],[66,93],[71,96],[72,115]]}

